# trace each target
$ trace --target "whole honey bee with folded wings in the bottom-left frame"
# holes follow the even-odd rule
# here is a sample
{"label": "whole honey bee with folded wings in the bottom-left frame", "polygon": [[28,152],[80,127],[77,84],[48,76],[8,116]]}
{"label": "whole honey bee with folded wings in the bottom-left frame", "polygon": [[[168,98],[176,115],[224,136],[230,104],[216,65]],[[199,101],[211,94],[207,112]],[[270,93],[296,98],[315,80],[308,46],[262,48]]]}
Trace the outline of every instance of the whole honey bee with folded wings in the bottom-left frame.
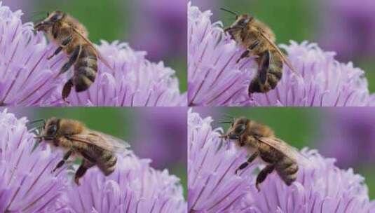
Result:
{"label": "whole honey bee with folded wings in the bottom-left frame", "polygon": [[105,176],[114,172],[117,162],[115,153],[125,153],[129,147],[129,144],[121,139],[90,130],[79,121],[64,118],[49,118],[43,121],[41,133],[35,138],[39,139],[39,143],[45,141],[66,151],[53,172],[62,167],[71,156],[83,158],[74,177],[77,185],[80,185],[79,179],[86,171],[95,165]]}

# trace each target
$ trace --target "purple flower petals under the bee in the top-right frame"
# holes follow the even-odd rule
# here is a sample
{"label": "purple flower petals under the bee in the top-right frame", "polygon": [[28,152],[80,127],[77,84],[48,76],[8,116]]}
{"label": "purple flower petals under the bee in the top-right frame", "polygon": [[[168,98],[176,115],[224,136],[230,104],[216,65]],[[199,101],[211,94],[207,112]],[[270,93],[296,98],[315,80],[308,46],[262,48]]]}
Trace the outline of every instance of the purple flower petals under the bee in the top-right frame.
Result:
{"label": "purple flower petals under the bee in the top-right frame", "polygon": [[224,34],[221,22],[210,21],[210,11],[188,9],[188,102],[190,106],[367,106],[369,95],[364,71],[352,63],[341,64],[334,53],[315,43],[282,46],[299,72],[287,66],[275,90],[247,95],[257,72],[254,58],[236,60],[244,49]]}

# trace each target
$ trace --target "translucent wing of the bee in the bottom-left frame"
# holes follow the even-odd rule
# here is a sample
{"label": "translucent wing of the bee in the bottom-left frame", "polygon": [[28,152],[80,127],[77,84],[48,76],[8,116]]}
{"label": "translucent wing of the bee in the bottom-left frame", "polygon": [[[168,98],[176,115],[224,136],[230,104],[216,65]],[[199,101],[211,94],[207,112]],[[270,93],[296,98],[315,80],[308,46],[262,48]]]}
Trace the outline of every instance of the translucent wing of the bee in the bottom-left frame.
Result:
{"label": "translucent wing of the bee in the bottom-left frame", "polygon": [[95,146],[99,146],[102,149],[106,149],[115,153],[125,153],[130,147],[130,145],[127,142],[124,142],[122,139],[118,139],[111,135],[107,135],[103,132],[97,132],[94,130],[87,130],[81,134],[68,135],[66,137],[77,142],[93,144]]}

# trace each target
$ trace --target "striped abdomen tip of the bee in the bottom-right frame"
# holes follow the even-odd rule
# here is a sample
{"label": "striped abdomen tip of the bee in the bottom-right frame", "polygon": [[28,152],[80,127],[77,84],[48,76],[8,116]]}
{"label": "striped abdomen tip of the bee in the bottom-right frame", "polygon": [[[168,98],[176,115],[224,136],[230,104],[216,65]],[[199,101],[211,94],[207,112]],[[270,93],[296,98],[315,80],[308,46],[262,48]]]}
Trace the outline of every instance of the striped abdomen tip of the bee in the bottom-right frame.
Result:
{"label": "striped abdomen tip of the bee in the bottom-right frame", "polygon": [[275,170],[285,184],[289,186],[296,180],[298,165],[294,160],[284,157],[278,163],[275,163]]}

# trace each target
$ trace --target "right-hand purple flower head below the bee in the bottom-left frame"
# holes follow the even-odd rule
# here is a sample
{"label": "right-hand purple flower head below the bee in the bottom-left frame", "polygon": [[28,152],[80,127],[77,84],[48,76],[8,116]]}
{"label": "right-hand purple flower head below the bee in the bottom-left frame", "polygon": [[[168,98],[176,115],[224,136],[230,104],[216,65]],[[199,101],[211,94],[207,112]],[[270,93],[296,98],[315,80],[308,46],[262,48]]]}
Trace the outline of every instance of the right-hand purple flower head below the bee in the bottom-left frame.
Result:
{"label": "right-hand purple flower head below the bee in the bottom-left frame", "polygon": [[154,170],[150,160],[118,156],[109,177],[97,168],[88,170],[81,186],[65,193],[67,212],[186,212],[177,177]]}

